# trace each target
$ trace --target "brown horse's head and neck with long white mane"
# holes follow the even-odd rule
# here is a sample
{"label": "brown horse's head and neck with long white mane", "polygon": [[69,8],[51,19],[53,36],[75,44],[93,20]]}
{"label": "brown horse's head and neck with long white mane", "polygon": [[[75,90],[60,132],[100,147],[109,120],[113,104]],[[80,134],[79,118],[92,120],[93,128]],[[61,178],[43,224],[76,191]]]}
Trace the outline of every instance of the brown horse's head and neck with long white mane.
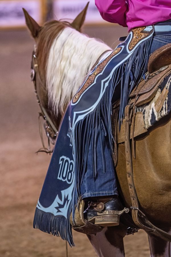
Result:
{"label": "brown horse's head and neck with long white mane", "polygon": [[68,103],[99,56],[110,50],[104,43],[80,33],[88,4],[72,23],[53,20],[43,26],[23,9],[35,40],[31,79],[46,120],[46,134],[53,144]]}

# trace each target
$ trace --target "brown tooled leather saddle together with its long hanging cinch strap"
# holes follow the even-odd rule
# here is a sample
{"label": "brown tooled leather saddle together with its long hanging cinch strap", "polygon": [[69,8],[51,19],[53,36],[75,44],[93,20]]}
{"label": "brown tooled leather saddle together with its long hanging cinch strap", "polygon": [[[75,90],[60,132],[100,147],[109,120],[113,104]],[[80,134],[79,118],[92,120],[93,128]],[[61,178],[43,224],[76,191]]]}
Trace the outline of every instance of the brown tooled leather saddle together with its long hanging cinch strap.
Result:
{"label": "brown tooled leather saddle together with its long hanging cinch strap", "polygon": [[[125,117],[119,131],[119,100],[113,105],[112,127],[114,137],[114,154],[113,160],[117,166],[117,143],[125,142],[126,171],[129,185],[129,193],[132,202],[132,219],[136,228],[142,228],[146,232],[158,236],[166,241],[171,242],[171,235],[154,226],[139,209],[132,168],[132,155],[135,157],[134,138],[147,131],[145,127],[143,113],[137,112],[136,108],[154,101],[155,110],[160,112],[168,94],[167,87],[159,91],[162,83],[168,75],[171,77],[171,44],[157,49],[149,58],[148,72],[145,74],[139,85],[133,89],[129,95],[129,103],[125,108]],[[130,139],[132,138],[132,152]]]}

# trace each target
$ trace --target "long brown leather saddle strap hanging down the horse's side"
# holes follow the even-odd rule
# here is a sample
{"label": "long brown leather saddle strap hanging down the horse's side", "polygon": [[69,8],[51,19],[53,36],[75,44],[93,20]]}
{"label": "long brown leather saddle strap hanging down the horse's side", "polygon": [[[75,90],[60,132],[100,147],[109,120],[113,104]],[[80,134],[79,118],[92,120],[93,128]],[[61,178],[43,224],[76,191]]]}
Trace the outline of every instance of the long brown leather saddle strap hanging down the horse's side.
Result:
{"label": "long brown leather saddle strap hanging down the horse's side", "polygon": [[131,105],[127,105],[125,108],[125,119],[123,120],[125,126],[125,156],[126,156],[126,170],[127,170],[127,180],[129,186],[129,193],[132,202],[132,218],[134,223],[141,229],[145,230],[147,233],[153,234],[162,238],[163,240],[171,242],[171,235],[154,226],[145,216],[145,214],[139,209],[139,202],[137,193],[135,190],[135,184],[133,179],[133,168],[132,168],[132,156],[130,147],[130,108]]}

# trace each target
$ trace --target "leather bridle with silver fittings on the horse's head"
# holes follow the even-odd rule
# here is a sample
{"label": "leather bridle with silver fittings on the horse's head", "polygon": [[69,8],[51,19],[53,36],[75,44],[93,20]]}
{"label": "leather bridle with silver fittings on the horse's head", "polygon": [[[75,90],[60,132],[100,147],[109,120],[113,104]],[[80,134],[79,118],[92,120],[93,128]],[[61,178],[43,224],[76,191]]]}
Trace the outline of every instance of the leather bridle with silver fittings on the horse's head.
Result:
{"label": "leather bridle with silver fittings on the horse's head", "polygon": [[[37,87],[36,87],[36,76],[39,77],[40,75],[38,72],[38,63],[37,63],[37,58],[36,58],[36,46],[34,45],[34,51],[32,52],[32,61],[31,61],[31,74],[30,74],[30,79],[34,83],[34,92],[36,95],[36,99],[38,102],[38,105],[40,107],[41,112],[39,112],[39,133],[40,133],[40,138],[42,141],[42,148],[40,148],[36,153],[38,152],[46,152],[46,153],[52,153],[53,149],[50,147],[51,144],[55,144],[57,134],[58,134],[58,129],[55,127],[54,123],[52,122],[52,119],[50,119],[48,113],[46,112],[45,108],[41,105],[38,94],[37,94]],[[41,79],[40,83],[43,85]],[[48,138],[48,148],[45,147],[44,145],[44,140],[43,140],[43,134],[42,134],[42,127],[41,127],[41,122],[40,122],[40,117],[44,119],[44,130],[46,132],[46,136]]]}

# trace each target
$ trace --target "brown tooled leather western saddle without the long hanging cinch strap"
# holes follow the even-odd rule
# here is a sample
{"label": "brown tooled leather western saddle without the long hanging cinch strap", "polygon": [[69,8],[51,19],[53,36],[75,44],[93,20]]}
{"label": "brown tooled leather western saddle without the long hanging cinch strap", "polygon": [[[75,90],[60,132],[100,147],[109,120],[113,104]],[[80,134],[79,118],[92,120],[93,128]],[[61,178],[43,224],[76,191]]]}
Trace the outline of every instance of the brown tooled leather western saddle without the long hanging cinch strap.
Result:
{"label": "brown tooled leather western saddle without the long hanging cinch strap", "polygon": [[[140,83],[133,89],[129,95],[129,110],[130,110],[130,135],[129,138],[134,138],[144,132],[147,132],[147,129],[144,124],[143,113],[135,113],[135,107],[139,107],[143,104],[149,103],[156,95],[158,89],[160,88],[161,83],[164,79],[171,74],[171,43],[157,49],[152,55],[150,55],[148,61],[148,72],[141,79]],[[166,98],[167,95],[165,95]],[[165,100],[163,98],[163,100]],[[116,101],[113,105],[113,116],[112,116],[112,127],[113,136],[115,138],[114,145],[114,163],[117,166],[117,143],[125,142],[125,127],[123,126],[125,119],[119,130],[118,126],[118,112],[119,112],[120,100]],[[160,101],[156,111],[161,110],[161,105],[163,101]],[[126,108],[126,110],[128,107]],[[126,115],[126,113],[125,113]],[[134,144],[133,146],[133,155],[134,155]],[[134,155],[135,157],[135,155]]]}

